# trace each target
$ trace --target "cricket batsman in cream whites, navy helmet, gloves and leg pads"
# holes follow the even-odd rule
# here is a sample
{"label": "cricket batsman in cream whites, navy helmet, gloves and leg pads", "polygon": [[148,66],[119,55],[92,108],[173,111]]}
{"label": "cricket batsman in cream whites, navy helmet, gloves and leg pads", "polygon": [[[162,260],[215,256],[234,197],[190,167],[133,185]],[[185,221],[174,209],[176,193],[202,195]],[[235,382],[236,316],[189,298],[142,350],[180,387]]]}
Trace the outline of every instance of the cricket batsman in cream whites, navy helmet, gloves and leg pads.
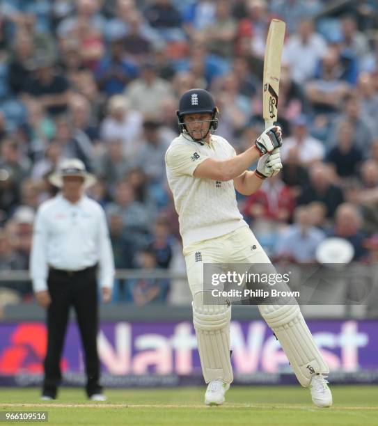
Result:
{"label": "cricket batsman in cream whites, navy helmet, gloves and leg pads", "polygon": [[[242,154],[221,136],[218,109],[210,93],[195,88],[180,99],[180,136],[166,151],[166,174],[179,215],[183,253],[193,296],[193,322],[205,383],[205,404],[220,405],[233,381],[230,362],[231,308],[203,303],[203,263],[270,263],[237,208],[235,189],[253,194],[281,168],[281,128],[269,127]],[[258,160],[255,171],[248,171]],[[251,247],[254,247],[252,250]],[[298,304],[260,304],[302,386],[317,407],[330,407],[328,365],[320,354]]]}

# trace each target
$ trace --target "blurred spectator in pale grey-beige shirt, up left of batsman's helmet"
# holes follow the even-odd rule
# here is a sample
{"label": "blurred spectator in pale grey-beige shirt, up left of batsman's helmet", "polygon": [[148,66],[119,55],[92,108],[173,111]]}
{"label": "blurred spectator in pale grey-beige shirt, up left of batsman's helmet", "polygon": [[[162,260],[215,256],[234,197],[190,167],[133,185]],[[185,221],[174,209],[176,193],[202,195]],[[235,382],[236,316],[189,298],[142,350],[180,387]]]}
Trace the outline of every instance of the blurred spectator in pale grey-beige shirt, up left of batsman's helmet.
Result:
{"label": "blurred spectator in pale grey-beige shirt, up left of batsman's helmet", "polygon": [[154,116],[162,108],[164,97],[172,95],[172,88],[167,81],[157,77],[154,64],[145,63],[141,77],[127,86],[125,95],[133,109]]}

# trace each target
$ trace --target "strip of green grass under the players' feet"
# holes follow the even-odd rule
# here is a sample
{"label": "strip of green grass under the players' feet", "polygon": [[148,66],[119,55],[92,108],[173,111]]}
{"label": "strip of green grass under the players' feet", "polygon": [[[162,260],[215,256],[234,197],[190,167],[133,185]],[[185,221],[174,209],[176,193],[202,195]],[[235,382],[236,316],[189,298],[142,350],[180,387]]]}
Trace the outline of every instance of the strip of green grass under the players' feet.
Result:
{"label": "strip of green grass under the players' feet", "polygon": [[333,407],[318,409],[300,386],[235,386],[221,407],[203,405],[205,387],[107,389],[102,403],[81,388],[61,388],[52,402],[40,401],[37,388],[0,388],[0,409],[48,411],[47,425],[378,425],[377,386],[332,391]]}

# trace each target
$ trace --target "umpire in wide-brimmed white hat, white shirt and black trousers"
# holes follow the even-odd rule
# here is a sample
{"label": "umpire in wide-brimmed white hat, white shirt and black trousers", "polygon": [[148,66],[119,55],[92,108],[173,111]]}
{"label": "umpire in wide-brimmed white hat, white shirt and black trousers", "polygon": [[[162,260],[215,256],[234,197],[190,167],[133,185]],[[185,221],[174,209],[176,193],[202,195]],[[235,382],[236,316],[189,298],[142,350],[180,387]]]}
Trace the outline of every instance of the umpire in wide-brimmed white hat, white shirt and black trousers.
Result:
{"label": "umpire in wide-brimmed white hat, white shirt and black trousers", "polygon": [[111,300],[113,253],[102,207],[84,189],[95,183],[79,159],[66,159],[49,181],[61,191],[40,205],[31,250],[31,279],[47,308],[47,354],[42,400],[54,400],[61,382],[61,353],[74,306],[86,361],[86,393],[104,401],[97,354],[97,264],[104,302]]}

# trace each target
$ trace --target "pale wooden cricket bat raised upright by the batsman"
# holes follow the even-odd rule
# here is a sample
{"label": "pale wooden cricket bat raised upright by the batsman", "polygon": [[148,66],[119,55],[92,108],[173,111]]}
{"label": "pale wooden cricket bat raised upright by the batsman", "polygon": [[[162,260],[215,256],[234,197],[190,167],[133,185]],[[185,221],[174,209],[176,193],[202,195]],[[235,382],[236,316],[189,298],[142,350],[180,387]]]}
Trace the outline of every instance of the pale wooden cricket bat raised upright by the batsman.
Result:
{"label": "pale wooden cricket bat raised upright by the batsman", "polygon": [[[278,91],[281,75],[281,55],[285,38],[286,24],[279,19],[271,19],[264,57],[264,76],[262,78],[262,116],[265,129],[277,121]],[[276,148],[274,152],[277,152]]]}

